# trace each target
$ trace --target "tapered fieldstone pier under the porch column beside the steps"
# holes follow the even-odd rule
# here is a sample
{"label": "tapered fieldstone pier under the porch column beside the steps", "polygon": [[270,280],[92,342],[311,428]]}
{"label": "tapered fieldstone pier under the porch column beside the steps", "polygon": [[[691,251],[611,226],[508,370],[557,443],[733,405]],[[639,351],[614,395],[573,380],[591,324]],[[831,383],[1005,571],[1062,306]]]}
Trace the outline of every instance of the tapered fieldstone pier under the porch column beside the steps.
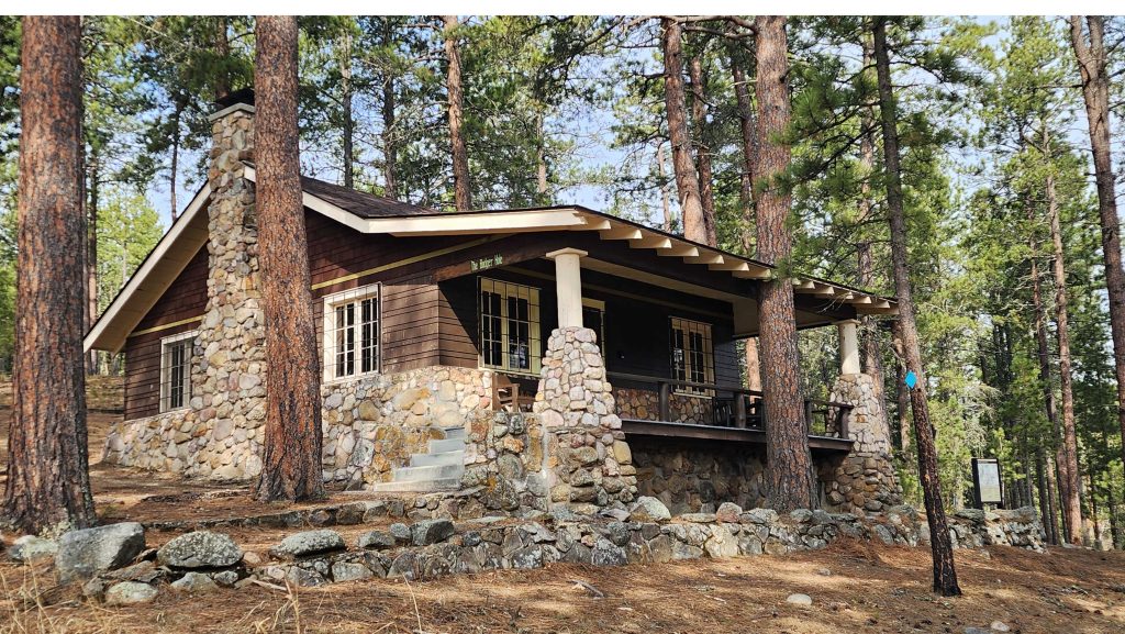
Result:
{"label": "tapered fieldstone pier under the porch column beside the steps", "polygon": [[548,435],[551,503],[590,514],[637,494],[632,452],[595,341],[588,328],[551,332],[533,405]]}

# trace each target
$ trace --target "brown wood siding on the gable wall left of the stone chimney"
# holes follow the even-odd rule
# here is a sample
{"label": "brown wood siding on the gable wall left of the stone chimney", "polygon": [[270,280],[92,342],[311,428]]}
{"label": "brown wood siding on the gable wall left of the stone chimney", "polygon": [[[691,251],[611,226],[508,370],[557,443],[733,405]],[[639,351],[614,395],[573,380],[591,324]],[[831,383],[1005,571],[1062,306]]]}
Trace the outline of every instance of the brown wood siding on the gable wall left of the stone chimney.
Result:
{"label": "brown wood siding on the gable wall left of the stone chimney", "polygon": [[[134,332],[202,315],[207,309],[207,245],[180,271]],[[125,341],[125,418],[160,413],[160,340],[196,330],[199,322],[181,323],[156,332],[133,334]]]}

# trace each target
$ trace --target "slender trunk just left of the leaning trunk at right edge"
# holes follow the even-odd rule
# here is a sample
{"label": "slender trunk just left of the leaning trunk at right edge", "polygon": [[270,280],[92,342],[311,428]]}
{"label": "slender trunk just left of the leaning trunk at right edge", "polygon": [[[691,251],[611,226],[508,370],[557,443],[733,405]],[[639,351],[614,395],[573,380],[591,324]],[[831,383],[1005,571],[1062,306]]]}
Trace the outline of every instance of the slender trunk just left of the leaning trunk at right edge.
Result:
{"label": "slender trunk just left of the leaning trunk at right edge", "polygon": [[1074,428],[1074,390],[1071,374],[1070,327],[1066,314],[1066,269],[1054,175],[1047,175],[1045,189],[1047,214],[1051,216],[1051,242],[1054,248],[1051,269],[1055,285],[1055,332],[1059,339],[1059,384],[1062,395],[1062,446],[1059,448],[1059,473],[1063,481],[1060,483],[1060,489],[1063,494],[1066,541],[1071,544],[1080,544],[1082,541],[1082,506],[1079,495],[1081,484],[1078,471],[1078,435]]}

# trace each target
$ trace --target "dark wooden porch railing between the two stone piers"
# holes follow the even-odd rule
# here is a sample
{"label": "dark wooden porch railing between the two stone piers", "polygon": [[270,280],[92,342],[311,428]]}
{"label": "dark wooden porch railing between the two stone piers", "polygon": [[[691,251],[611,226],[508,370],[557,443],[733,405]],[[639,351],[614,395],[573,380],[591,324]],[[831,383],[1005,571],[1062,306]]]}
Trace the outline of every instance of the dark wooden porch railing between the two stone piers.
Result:
{"label": "dark wooden porch railing between the two stone piers", "polygon": [[[735,427],[739,429],[762,429],[768,425],[762,392],[735,385],[699,383],[660,376],[609,372],[606,376],[614,387],[624,387],[622,382],[650,385],[658,394],[657,416],[660,421],[670,422],[672,399],[704,399],[710,402],[710,420],[698,420],[699,425]],[[676,392],[676,390],[683,390]],[[804,420],[810,436],[828,438],[848,437],[848,419],[852,405],[820,399],[804,399]]]}

